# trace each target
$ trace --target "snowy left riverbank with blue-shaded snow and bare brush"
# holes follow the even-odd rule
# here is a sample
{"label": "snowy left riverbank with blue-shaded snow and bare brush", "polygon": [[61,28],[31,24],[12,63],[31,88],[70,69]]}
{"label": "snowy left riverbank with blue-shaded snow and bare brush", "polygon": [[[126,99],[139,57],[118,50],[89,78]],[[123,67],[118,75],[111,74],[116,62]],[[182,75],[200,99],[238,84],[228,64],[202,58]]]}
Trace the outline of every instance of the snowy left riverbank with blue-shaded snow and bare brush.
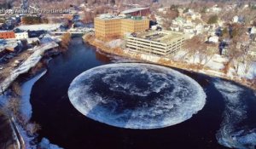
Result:
{"label": "snowy left riverbank with blue-shaded snow and bare brush", "polygon": [[[7,126],[9,126],[9,131],[5,133],[5,135],[9,135],[9,140],[11,141],[9,146],[15,146],[15,148],[23,149],[30,146],[30,141],[33,140],[34,137],[28,136],[27,131],[33,131],[34,123],[30,122],[30,118],[32,115],[32,106],[30,105],[30,93],[33,86],[39,77],[42,77],[46,71],[40,73],[42,68],[44,67],[44,57],[48,58],[50,55],[54,55],[57,51],[55,48],[59,47],[59,44],[55,42],[44,43],[38,47],[33,49],[28,49],[28,53],[30,54],[26,57],[26,60],[21,63],[20,66],[16,68],[9,68],[9,75],[4,78],[3,82],[0,83],[0,106],[3,108],[3,111],[7,113],[6,118],[8,119]],[[49,51],[49,49],[54,49]],[[59,50],[59,49],[58,49]],[[43,67],[42,67],[43,66]],[[9,89],[10,87],[14,87],[17,79],[20,75],[24,75],[29,73],[31,80],[28,80],[25,83],[22,83],[20,87],[18,87],[18,96],[15,97],[14,94],[16,90]],[[35,76],[35,77],[34,77]],[[19,81],[18,81],[19,82]],[[14,114],[11,112],[9,106],[10,102],[13,99],[16,99],[15,105],[12,108],[15,108],[18,113]],[[30,148],[30,147],[29,147]]]}

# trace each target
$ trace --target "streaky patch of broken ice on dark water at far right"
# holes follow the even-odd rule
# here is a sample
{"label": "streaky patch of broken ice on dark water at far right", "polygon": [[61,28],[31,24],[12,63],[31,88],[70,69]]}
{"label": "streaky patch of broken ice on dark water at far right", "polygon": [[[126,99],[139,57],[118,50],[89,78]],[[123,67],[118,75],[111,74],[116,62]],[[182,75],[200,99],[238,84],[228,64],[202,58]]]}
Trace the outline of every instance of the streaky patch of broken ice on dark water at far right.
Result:
{"label": "streaky patch of broken ice on dark water at far right", "polygon": [[[218,143],[230,148],[254,149],[256,146],[256,129],[245,129],[239,124],[247,119],[247,104],[243,94],[246,90],[221,80],[214,81],[215,87],[224,96],[224,120],[217,133]],[[252,99],[255,99],[255,96]]]}

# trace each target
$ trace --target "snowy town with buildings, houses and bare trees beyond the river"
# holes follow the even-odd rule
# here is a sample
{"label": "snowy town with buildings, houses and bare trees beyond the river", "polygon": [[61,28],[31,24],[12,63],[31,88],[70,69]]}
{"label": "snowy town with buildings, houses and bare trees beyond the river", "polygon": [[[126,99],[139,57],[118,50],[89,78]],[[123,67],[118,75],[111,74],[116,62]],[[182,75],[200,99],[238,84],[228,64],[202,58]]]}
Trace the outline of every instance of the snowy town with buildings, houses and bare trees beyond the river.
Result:
{"label": "snowy town with buildings, houses and bare trees beyond the river", "polygon": [[[0,2],[0,95],[11,89],[19,98],[15,81],[42,71],[68,50],[73,37],[106,54],[256,89],[253,1],[21,0]],[[15,120],[9,123],[22,123],[35,134],[37,123],[26,127],[29,118],[20,118],[15,104],[9,110]],[[16,141],[9,146],[25,148],[19,127],[12,129]]]}

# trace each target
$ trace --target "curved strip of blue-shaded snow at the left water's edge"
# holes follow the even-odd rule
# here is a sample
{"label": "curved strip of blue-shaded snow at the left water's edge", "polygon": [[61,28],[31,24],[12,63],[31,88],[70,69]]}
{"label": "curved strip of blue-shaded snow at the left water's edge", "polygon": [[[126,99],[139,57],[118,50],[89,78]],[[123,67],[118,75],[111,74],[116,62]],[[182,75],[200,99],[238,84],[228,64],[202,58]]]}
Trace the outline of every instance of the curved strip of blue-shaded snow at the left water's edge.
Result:
{"label": "curved strip of blue-shaded snow at the left water's edge", "polygon": [[32,105],[30,103],[30,95],[33,84],[36,83],[40,77],[43,77],[46,72],[47,71],[44,70],[44,72],[41,72],[35,77],[32,77],[32,79],[21,85],[20,112],[22,116],[26,117],[27,121],[32,117]]}

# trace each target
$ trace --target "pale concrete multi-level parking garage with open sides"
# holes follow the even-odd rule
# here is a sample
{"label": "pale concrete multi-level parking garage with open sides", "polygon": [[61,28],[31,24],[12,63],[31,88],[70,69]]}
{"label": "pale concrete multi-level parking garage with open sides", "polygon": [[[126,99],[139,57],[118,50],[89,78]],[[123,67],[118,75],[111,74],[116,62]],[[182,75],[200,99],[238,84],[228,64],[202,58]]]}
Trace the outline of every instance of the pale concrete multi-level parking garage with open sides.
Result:
{"label": "pale concrete multi-level parking garage with open sides", "polygon": [[182,48],[185,37],[177,32],[143,32],[126,37],[126,48],[146,54],[168,56]]}

